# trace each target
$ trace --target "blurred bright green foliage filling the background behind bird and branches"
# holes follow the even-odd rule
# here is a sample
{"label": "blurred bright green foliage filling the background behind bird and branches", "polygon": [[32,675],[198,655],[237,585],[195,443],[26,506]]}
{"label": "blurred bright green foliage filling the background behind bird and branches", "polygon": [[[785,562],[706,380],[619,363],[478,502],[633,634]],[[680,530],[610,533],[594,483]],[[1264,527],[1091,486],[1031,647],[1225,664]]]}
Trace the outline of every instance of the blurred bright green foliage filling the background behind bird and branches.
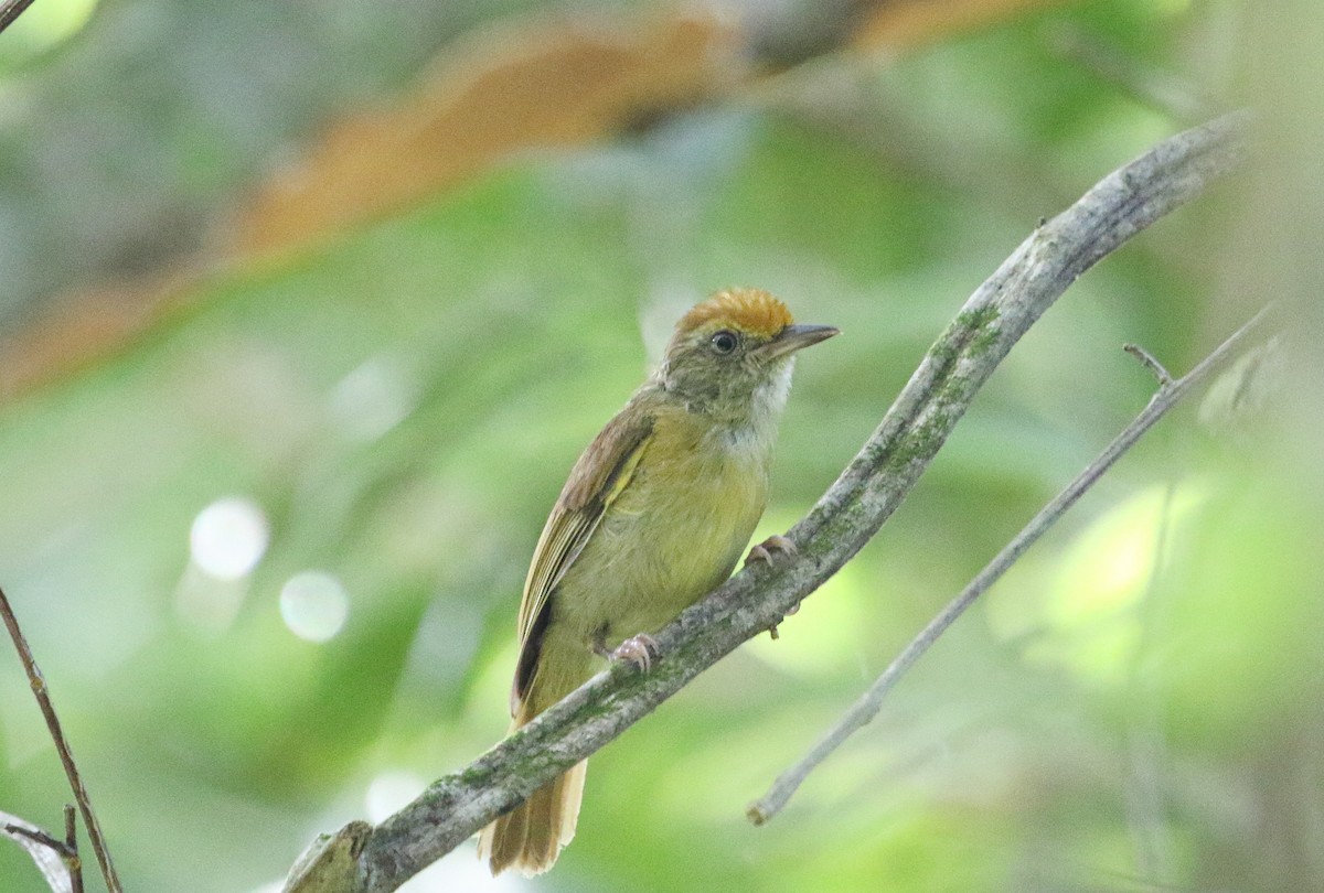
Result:
{"label": "blurred bright green foliage filling the background behind bird and branches", "polygon": [[[37,78],[54,119],[93,128],[78,131],[89,152],[130,165],[107,193],[127,230],[83,214],[101,206],[81,185],[89,159],[57,165],[64,197],[26,179],[15,159],[49,152],[45,128],[7,126],[0,147],[0,196],[26,191],[79,221],[49,222],[78,246],[61,253],[74,267],[89,242],[160,226],[152,208],[229,189],[270,151],[216,110],[203,130],[180,123],[196,111],[183,94],[183,118],[155,126],[159,91],[224,82],[222,111],[289,135],[311,108],[402,78],[478,16],[445,4],[422,34],[399,25],[429,4],[384,17],[339,4],[323,19],[282,3],[230,33],[256,7],[105,5],[74,46],[9,78]],[[1238,58],[1263,50],[1238,42],[1237,22],[1231,4],[1098,0],[886,65],[820,61],[784,75],[780,99],[527,153],[297,258],[213,273],[127,349],[4,406],[0,583],[128,886],[265,889],[316,832],[380,819],[504,733],[519,587],[565,471],[675,316],[726,284],[769,288],[845,332],[797,372],[757,536],[784,531],[1034,221],[1181,126],[1054,53],[1051,36],[1070,29],[1217,95]],[[261,56],[275,32],[285,82],[315,102],[252,102],[267,69],[226,53]],[[408,41],[383,61],[369,46],[388,32]],[[93,64],[126,34],[154,60],[130,82]],[[375,42],[326,65],[346,34]],[[838,81],[851,89],[825,87]],[[87,135],[97,115],[123,144]],[[154,152],[192,173],[126,197]],[[33,220],[21,208],[7,201],[5,220]],[[1189,410],[963,618],[784,816],[764,828],[743,816],[1143,407],[1153,382],[1121,341],[1184,370],[1241,321],[1219,287],[1227,267],[1210,262],[1211,245],[1249,251],[1229,235],[1239,209],[1225,191],[1075,284],[894,521],[779,642],[741,648],[593,758],[579,837],[538,884],[1324,885],[1317,479],[1294,478],[1313,471],[1317,431],[1214,437]],[[33,283],[57,279],[49,253],[32,241],[0,258],[7,280],[40,294]],[[221,579],[189,536],[232,496],[260,509],[269,545],[252,573]],[[282,614],[282,587],[306,569],[347,597],[326,642]],[[8,667],[0,807],[53,827],[68,795]],[[0,889],[38,884],[17,848],[0,848]],[[406,889],[520,886],[485,880],[461,851]]]}

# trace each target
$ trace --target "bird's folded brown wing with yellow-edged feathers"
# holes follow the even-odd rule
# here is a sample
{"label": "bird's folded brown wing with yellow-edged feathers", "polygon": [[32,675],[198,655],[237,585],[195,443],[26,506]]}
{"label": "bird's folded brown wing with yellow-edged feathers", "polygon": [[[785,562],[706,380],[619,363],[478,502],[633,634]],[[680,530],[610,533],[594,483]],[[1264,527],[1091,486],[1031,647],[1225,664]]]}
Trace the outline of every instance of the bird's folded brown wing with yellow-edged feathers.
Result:
{"label": "bird's folded brown wing with yellow-edged feathers", "polygon": [[543,632],[551,619],[552,591],[593,537],[606,509],[630,483],[651,437],[651,415],[621,413],[606,423],[575,463],[538,540],[524,581],[511,714],[534,680]]}

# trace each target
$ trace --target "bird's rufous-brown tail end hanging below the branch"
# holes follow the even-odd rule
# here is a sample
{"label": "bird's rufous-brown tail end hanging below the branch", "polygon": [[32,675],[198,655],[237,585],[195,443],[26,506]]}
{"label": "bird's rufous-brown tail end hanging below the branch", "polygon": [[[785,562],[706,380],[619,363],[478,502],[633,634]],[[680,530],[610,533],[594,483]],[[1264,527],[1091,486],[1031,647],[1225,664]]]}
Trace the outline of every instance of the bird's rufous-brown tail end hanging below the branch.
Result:
{"label": "bird's rufous-brown tail end hanging below the branch", "polygon": [[524,876],[542,874],[556,863],[561,847],[575,836],[584,796],[584,761],[527,800],[483,828],[478,857],[493,874],[515,868]]}

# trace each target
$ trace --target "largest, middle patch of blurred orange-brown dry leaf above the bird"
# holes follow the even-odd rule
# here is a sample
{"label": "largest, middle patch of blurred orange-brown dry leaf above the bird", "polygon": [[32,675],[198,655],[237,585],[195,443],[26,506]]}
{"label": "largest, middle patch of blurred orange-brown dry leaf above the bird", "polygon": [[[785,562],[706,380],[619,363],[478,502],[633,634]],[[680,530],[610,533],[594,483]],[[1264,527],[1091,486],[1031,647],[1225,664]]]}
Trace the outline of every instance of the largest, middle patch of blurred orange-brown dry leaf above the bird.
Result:
{"label": "largest, middle patch of blurred orange-brown dry leaf above the bird", "polygon": [[279,251],[373,218],[510,152],[569,146],[643,114],[727,89],[739,77],[732,34],[712,17],[636,28],[524,20],[446,53],[399,106],[343,120],[241,216],[241,254]]}

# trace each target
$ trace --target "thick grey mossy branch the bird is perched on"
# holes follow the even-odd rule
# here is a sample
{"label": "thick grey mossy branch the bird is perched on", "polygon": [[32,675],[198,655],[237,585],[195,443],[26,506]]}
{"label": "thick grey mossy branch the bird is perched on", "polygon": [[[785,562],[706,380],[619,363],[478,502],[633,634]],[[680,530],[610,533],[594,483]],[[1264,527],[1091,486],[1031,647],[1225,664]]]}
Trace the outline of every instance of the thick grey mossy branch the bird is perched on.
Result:
{"label": "thick grey mossy branch the bird is perched on", "polygon": [[[1173,136],[1038,226],[965,303],[841,478],[789,537],[784,568],[748,568],[657,635],[646,676],[594,676],[372,829],[355,878],[323,889],[385,893],[650,713],[740,643],[781,620],[878,532],[1012,345],[1099,259],[1233,171],[1246,152],[1234,114]],[[332,848],[336,851],[336,848]]]}

